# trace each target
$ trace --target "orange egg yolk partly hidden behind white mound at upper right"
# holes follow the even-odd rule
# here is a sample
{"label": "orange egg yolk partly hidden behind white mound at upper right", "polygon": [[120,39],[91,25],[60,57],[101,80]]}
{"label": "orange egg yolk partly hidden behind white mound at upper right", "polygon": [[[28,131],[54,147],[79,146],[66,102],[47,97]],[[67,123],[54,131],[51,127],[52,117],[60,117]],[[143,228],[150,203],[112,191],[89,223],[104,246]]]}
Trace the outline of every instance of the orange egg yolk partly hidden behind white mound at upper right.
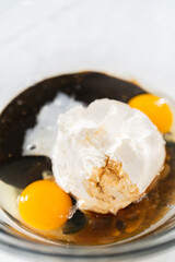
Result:
{"label": "orange egg yolk partly hidden behind white mound at upper right", "polygon": [[144,112],[162,133],[170,131],[173,115],[163,98],[151,94],[142,94],[131,98],[129,105]]}

